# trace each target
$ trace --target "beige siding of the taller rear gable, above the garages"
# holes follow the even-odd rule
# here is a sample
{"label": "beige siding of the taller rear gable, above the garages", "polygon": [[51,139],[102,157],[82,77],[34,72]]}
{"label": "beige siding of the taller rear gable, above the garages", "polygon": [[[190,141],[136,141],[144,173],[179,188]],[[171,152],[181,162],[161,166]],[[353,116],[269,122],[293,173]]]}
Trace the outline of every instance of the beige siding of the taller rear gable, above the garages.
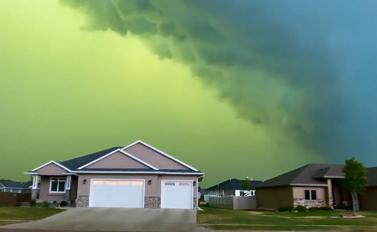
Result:
{"label": "beige siding of the taller rear gable, above the garages", "polygon": [[149,164],[152,164],[159,169],[189,169],[184,165],[179,164],[178,162],[150,149],[149,147],[144,146],[143,144],[135,144],[124,151]]}

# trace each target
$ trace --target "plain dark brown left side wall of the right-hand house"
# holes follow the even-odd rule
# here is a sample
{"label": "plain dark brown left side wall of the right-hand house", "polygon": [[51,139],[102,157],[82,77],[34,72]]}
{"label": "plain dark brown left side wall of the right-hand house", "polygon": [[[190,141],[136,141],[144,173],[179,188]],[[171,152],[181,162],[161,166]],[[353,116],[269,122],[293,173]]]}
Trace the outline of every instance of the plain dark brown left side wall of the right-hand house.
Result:
{"label": "plain dark brown left side wall of the right-hand house", "polygon": [[257,208],[277,209],[279,207],[293,205],[292,187],[265,187],[256,188]]}

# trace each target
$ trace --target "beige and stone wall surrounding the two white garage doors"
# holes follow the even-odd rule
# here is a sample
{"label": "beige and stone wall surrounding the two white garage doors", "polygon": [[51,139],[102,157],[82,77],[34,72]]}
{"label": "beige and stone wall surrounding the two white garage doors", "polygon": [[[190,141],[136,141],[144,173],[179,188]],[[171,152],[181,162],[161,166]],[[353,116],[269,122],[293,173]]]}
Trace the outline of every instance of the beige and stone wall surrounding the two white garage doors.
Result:
{"label": "beige and stone wall surrounding the two white garage doors", "polygon": [[[91,179],[142,179],[145,180],[145,208],[161,207],[161,181],[162,180],[192,180],[198,181],[198,176],[179,175],[132,175],[132,174],[80,174],[77,182],[77,207],[89,206],[89,193]],[[84,180],[86,183],[84,184]],[[148,181],[151,180],[151,184]],[[197,185],[193,186],[193,207],[197,206]]]}

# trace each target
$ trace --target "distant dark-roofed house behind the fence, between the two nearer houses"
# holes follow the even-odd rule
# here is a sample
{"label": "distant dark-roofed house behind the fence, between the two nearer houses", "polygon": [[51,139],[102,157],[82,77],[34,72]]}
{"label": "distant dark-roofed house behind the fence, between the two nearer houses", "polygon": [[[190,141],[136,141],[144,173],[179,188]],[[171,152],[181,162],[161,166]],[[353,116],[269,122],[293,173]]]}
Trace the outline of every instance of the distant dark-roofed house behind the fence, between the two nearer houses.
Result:
{"label": "distant dark-roofed house behind the fence, between the two nearer houses", "polygon": [[[242,183],[245,180],[239,179],[228,179],[212,187],[207,188],[208,195],[216,196],[241,196],[242,192]],[[247,192],[246,196],[254,196],[255,188],[262,184],[261,180],[249,180],[250,191]]]}

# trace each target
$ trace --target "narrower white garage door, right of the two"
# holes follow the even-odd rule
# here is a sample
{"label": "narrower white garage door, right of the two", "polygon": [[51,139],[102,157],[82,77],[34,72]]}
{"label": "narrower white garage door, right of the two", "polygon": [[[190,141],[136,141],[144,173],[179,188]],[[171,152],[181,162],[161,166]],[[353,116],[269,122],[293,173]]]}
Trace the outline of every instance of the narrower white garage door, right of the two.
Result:
{"label": "narrower white garage door, right of the two", "polygon": [[191,181],[162,180],[161,208],[192,209],[193,187]]}

